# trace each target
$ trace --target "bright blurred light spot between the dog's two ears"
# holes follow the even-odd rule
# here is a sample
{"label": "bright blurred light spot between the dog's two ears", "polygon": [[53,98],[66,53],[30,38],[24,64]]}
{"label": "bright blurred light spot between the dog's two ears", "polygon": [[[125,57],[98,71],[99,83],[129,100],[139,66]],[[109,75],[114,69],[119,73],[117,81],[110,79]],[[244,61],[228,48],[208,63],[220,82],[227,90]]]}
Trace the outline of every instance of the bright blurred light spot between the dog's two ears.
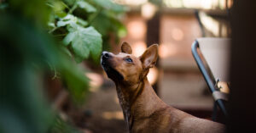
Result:
{"label": "bright blurred light spot between the dog's two ears", "polygon": [[135,42],[131,45],[132,54],[136,57],[141,56],[144,51],[147,49],[147,45],[145,42]]}

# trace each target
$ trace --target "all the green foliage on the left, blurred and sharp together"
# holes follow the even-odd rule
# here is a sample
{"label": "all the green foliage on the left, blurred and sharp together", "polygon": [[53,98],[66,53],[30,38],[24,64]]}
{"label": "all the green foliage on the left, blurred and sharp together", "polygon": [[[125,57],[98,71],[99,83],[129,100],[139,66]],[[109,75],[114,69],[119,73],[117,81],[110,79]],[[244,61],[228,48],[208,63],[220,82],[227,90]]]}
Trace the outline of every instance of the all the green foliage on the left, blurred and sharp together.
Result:
{"label": "all the green foliage on the left, blurred and sharp together", "polygon": [[83,101],[88,79],[73,58],[96,62],[109,33],[124,35],[123,11],[108,0],[0,1],[0,132],[76,132],[49,108],[44,75]]}

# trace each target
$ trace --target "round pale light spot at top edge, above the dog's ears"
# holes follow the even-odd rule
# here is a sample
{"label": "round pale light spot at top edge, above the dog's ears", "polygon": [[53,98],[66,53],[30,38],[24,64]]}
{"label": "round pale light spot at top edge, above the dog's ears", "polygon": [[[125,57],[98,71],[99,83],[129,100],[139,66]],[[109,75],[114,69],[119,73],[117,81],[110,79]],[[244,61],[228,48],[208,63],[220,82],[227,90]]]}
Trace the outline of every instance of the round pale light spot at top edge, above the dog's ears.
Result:
{"label": "round pale light spot at top edge, above the dog's ears", "polygon": [[142,6],[142,15],[145,19],[151,19],[156,10],[157,8],[153,3],[145,3]]}

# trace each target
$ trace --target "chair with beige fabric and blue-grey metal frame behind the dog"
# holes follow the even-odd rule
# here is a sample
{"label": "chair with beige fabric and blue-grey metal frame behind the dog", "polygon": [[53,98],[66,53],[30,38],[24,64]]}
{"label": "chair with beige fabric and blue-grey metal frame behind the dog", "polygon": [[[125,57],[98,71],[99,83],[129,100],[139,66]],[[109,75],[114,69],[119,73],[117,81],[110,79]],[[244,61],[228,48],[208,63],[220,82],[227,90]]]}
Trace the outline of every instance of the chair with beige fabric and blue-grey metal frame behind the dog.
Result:
{"label": "chair with beige fabric and blue-grey metal frame behind the dog", "polygon": [[[192,54],[212,92],[215,107],[218,106],[224,116],[227,116],[225,104],[228,101],[230,81],[230,39],[198,38],[192,44]],[[215,108],[213,114],[216,114],[216,111]]]}

